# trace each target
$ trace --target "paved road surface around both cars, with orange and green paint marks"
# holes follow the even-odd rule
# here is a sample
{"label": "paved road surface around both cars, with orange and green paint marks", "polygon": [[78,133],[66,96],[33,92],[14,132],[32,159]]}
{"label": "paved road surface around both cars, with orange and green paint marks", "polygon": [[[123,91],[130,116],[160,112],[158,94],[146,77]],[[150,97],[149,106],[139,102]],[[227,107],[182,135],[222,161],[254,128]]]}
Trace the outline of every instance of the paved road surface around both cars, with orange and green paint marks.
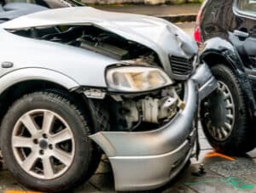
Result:
{"label": "paved road surface around both cars, with orange and green paint marks", "polygon": [[[195,23],[177,24],[190,36],[193,35]],[[193,158],[191,165],[177,179],[158,190],[145,192],[163,193],[256,193],[256,149],[246,156],[230,157],[216,153],[208,144],[200,129],[201,155],[199,160]],[[201,169],[203,164],[204,170]],[[0,169],[0,193],[24,193],[26,187],[19,184],[9,173],[3,163]],[[113,173],[108,158],[102,156],[102,162],[89,182],[79,186],[71,193],[115,192]]]}

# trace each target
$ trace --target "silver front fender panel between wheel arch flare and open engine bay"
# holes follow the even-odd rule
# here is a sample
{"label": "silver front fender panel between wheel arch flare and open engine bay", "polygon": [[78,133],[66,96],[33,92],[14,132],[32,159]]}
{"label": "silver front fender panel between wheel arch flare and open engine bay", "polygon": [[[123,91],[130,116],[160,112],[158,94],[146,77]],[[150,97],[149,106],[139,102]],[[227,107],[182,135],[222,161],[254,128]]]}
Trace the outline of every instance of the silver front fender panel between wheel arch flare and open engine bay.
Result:
{"label": "silver front fender panel between wheel arch flare and open engine bay", "polygon": [[[20,37],[0,28],[0,64],[13,63],[0,77],[24,68],[49,69],[71,77],[79,85],[106,88],[105,69],[119,61],[83,48]],[[28,74],[30,76],[30,74]]]}

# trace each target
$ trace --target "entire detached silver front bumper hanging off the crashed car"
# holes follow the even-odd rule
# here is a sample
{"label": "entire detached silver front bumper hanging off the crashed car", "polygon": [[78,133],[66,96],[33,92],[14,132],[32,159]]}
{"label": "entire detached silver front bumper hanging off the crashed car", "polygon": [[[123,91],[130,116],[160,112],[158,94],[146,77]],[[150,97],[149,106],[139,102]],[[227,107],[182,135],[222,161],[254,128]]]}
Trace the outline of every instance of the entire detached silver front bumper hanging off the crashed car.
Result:
{"label": "entire detached silver front bumper hanging off the crashed car", "polygon": [[[203,78],[206,74],[207,78]],[[180,172],[195,144],[193,122],[198,101],[217,88],[217,82],[211,79],[207,65],[201,65],[185,84],[185,108],[162,128],[148,132],[99,132],[90,136],[111,162],[116,190],[154,189]]]}

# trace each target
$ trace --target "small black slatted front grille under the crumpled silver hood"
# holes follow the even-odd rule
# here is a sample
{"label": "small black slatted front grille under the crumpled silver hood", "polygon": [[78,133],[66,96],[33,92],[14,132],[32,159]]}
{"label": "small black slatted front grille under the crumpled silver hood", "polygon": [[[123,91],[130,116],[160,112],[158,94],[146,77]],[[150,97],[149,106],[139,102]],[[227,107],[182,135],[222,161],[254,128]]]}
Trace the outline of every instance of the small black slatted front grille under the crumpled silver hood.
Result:
{"label": "small black slatted front grille under the crumpled silver hood", "polygon": [[170,63],[172,68],[172,74],[175,75],[189,75],[193,71],[194,57],[186,59],[170,55]]}

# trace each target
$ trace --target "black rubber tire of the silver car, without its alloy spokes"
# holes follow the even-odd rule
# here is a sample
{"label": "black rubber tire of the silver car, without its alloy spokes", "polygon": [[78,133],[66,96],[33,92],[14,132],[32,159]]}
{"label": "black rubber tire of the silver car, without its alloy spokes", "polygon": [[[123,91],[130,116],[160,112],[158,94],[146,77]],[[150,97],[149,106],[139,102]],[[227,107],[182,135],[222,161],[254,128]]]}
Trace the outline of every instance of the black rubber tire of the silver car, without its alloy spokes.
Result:
{"label": "black rubber tire of the silver car, without its alloy spokes", "polygon": [[[15,157],[15,155],[19,155],[19,154],[15,154],[16,149],[17,151],[20,150],[18,148],[14,150],[13,143],[12,143],[12,141],[14,140],[14,137],[13,137],[15,133],[14,129],[17,125],[16,122],[20,120],[20,117],[23,117],[22,115],[26,115],[27,112],[31,112],[35,110],[47,110],[55,113],[55,117],[60,116],[62,118],[62,119],[60,118],[61,120],[64,120],[65,122],[67,122],[69,128],[71,128],[71,131],[72,131],[71,133],[73,133],[72,134],[73,138],[70,139],[72,140],[73,144],[67,147],[67,151],[70,149],[71,152],[73,152],[72,153],[73,160],[72,162],[70,162],[70,165],[67,168],[67,170],[65,170],[65,173],[61,173],[60,176],[57,176],[54,179],[44,179],[43,177],[42,177],[43,179],[40,179],[37,176],[35,177],[34,175],[31,175],[31,173],[28,173],[28,172],[32,171],[32,168],[36,166],[32,166],[32,168],[27,172],[24,168],[22,168],[23,165],[21,167],[20,163],[17,162],[17,158]],[[30,116],[30,114],[28,115]],[[35,120],[36,120],[37,114],[32,115],[32,117],[33,117],[33,121],[36,122]],[[21,118],[21,120],[23,119]],[[44,118],[42,118],[42,120],[44,120]],[[84,116],[84,112],[79,110],[79,105],[76,105],[75,103],[73,103],[73,101],[71,99],[68,99],[68,97],[66,97],[65,94],[57,94],[55,92],[51,93],[46,91],[46,92],[37,92],[33,94],[27,94],[21,99],[18,99],[15,102],[15,104],[11,106],[6,116],[4,116],[2,126],[1,126],[1,148],[3,150],[3,158],[7,164],[7,167],[11,171],[11,173],[14,174],[15,179],[20,181],[21,184],[25,184],[29,188],[40,190],[40,191],[47,191],[47,192],[69,190],[83,183],[84,180],[89,179],[90,175],[94,173],[97,165],[101,160],[100,159],[101,153],[99,150],[96,150],[96,145],[94,145],[88,137],[91,133],[91,128],[87,124],[87,122],[88,121],[86,120],[86,116]],[[61,123],[59,124],[61,125]],[[26,129],[24,130],[24,126],[25,124],[22,126],[23,128],[21,128],[23,129],[22,133],[27,133],[29,129],[27,129],[27,131]],[[53,127],[52,129],[55,129],[55,126],[52,126],[52,127]],[[58,126],[58,127],[61,127],[61,126]],[[42,129],[43,128],[44,127],[42,123]],[[64,128],[65,126],[63,126],[63,130]],[[51,137],[50,134],[48,136],[50,139]],[[42,140],[43,139],[41,139],[41,137],[40,137],[40,140],[38,139],[39,146],[41,144],[44,144],[44,143],[41,143]],[[33,142],[35,141],[33,140]],[[69,144],[71,143],[70,141],[64,141],[61,143],[67,143],[67,142]],[[57,145],[59,144],[54,145],[53,150],[55,150],[56,148],[62,148],[62,146],[60,147],[60,145],[59,146]],[[47,150],[44,150],[45,155],[46,155],[46,152],[48,152]],[[63,149],[63,150],[66,150],[66,149]],[[27,153],[25,148],[23,151],[24,151],[24,154]],[[34,151],[31,150],[31,153],[28,156],[30,156],[32,152]],[[64,153],[69,153],[69,152],[64,152]],[[28,156],[25,156],[26,159]],[[56,162],[54,158],[48,158],[48,159],[50,159],[50,163],[52,163],[53,160]],[[41,164],[42,164],[41,170],[43,171],[42,176],[46,176],[45,174],[46,172],[44,172],[43,161]],[[61,164],[61,163],[57,162],[56,164]],[[38,160],[37,162],[34,162],[34,165],[37,165],[37,167],[40,167]],[[51,168],[53,168],[53,165],[51,165]],[[39,169],[38,171],[40,172]]]}

